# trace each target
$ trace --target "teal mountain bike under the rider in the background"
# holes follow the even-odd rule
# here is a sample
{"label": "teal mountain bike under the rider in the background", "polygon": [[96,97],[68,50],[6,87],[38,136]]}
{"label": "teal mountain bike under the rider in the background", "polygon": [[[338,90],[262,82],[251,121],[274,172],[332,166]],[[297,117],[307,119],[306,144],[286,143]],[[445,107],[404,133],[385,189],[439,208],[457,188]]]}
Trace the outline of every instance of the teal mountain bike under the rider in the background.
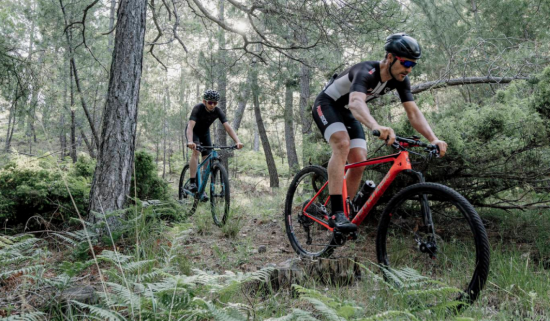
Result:
{"label": "teal mountain bike under the rider in the background", "polygon": [[[198,151],[211,149],[212,152],[197,168],[197,191],[189,190],[190,170],[189,164],[183,167],[178,185],[178,198],[185,208],[187,215],[193,215],[199,202],[208,202],[212,211],[212,218],[217,226],[225,225],[229,216],[229,177],[227,170],[220,162],[217,150],[236,149],[237,146],[197,146]],[[209,180],[210,178],[210,180]],[[210,184],[207,184],[210,181]],[[209,188],[210,195],[206,194]]]}

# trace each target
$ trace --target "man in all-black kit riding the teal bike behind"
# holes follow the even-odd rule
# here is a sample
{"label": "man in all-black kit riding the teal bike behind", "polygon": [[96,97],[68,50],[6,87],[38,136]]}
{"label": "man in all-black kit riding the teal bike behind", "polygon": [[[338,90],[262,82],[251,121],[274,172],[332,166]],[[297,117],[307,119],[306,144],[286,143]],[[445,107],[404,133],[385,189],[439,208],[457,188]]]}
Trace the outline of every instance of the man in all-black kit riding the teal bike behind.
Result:
{"label": "man in all-black kit riding the teal bike behind", "polygon": [[[197,190],[197,167],[199,161],[199,152],[197,146],[212,146],[212,140],[210,139],[210,125],[219,119],[223,124],[223,127],[235,141],[238,149],[243,148],[243,144],[237,137],[237,134],[227,121],[224,112],[217,107],[220,100],[220,94],[212,89],[208,89],[202,95],[202,103],[195,105],[191,111],[189,117],[189,123],[185,131],[187,136],[187,147],[193,150],[191,159],[189,160],[189,190],[195,192]],[[202,157],[206,158],[210,154],[211,150],[203,150]]]}

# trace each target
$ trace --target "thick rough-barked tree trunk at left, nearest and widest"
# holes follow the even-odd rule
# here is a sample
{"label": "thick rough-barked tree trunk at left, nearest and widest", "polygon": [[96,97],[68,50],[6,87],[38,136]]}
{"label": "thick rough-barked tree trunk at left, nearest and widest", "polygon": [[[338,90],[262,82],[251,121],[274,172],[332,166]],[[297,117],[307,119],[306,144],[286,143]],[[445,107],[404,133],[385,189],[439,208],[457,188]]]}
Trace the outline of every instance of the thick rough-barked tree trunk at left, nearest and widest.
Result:
{"label": "thick rough-barked tree trunk at left, nearest and widest", "polygon": [[[90,213],[122,209],[130,191],[146,12],[146,0],[119,2],[101,144],[90,191]],[[95,216],[90,215],[90,220],[95,222]],[[119,222],[117,218],[107,218],[114,228]]]}

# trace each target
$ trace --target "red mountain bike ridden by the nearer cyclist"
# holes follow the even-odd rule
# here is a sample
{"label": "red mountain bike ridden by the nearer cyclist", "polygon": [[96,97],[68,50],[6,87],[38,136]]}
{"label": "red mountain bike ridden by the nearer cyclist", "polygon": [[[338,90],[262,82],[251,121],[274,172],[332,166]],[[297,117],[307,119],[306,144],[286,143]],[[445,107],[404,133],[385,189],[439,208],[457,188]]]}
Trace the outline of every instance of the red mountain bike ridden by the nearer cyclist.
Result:
{"label": "red mountain bike ridden by the nearer cyclist", "polygon": [[[464,289],[459,300],[473,302],[489,273],[489,241],[479,215],[458,192],[441,184],[426,183],[422,173],[412,169],[408,148],[424,148],[426,159],[430,160],[438,154],[436,146],[423,143],[416,136],[397,137],[393,146],[399,150],[396,154],[346,165],[347,171],[393,162],[368,199],[363,199],[364,204],[355,204],[357,197],[355,202],[349,200],[344,179],[345,214],[359,225],[397,175],[405,173],[418,179],[419,183],[393,196],[382,213],[376,236],[378,263],[382,271],[388,271],[390,266],[410,267],[431,279],[444,278],[446,284]],[[327,177],[325,168],[307,166],[296,174],[286,196],[286,232],[301,256],[328,257],[347,240],[357,238],[355,233],[334,231],[328,224],[331,206]]]}

